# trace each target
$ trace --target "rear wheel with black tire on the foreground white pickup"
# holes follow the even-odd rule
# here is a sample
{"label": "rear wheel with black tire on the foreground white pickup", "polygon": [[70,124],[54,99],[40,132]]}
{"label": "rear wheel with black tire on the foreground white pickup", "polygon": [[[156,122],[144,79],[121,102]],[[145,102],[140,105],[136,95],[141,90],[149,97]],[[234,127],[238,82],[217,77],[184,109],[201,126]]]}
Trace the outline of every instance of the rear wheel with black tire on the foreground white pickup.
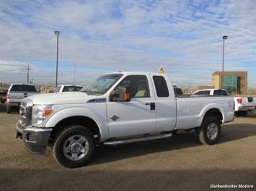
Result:
{"label": "rear wheel with black tire on the foreground white pickup", "polygon": [[[217,133],[216,131],[213,131],[214,134],[212,135],[210,131],[208,131],[208,127],[210,128],[210,125],[214,126],[214,129],[218,130]],[[203,120],[202,125],[197,129],[197,134],[198,139],[202,144],[216,144],[221,137],[221,121],[214,116],[206,116],[206,118],[204,118]]]}

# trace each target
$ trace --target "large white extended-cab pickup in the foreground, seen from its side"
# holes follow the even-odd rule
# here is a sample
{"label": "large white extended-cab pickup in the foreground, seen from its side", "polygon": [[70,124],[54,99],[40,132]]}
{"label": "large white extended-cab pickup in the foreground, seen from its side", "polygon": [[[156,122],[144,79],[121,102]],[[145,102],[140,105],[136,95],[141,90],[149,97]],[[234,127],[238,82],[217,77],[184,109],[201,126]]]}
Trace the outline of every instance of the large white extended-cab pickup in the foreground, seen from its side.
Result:
{"label": "large white extended-cab pickup in the foreground, seen from its side", "polygon": [[52,146],[56,161],[79,167],[95,146],[167,138],[197,131],[202,144],[215,144],[221,124],[234,120],[229,96],[176,97],[165,74],[110,73],[85,92],[24,98],[16,137],[34,154]]}

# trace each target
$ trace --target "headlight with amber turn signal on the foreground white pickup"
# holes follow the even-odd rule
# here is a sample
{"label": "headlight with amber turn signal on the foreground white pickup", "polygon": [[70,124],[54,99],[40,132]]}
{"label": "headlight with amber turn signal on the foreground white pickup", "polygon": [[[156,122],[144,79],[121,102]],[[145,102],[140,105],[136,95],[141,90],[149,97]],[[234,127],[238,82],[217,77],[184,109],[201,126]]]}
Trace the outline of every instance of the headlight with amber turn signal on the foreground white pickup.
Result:
{"label": "headlight with amber turn signal on the foreground white pickup", "polygon": [[45,118],[53,113],[53,105],[48,106],[33,106],[32,108],[32,126],[40,127]]}

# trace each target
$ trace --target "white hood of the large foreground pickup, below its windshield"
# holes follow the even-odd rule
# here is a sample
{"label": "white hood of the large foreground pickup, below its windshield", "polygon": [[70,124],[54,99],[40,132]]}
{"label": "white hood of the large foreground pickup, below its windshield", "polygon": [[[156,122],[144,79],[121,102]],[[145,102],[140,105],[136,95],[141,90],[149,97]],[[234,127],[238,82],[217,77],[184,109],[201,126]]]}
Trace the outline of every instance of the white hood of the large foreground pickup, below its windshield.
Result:
{"label": "white hood of the large foreground pickup, below its windshield", "polygon": [[91,99],[95,99],[95,95],[87,95],[83,92],[64,92],[64,93],[43,93],[27,97],[36,105],[52,105],[52,104],[72,104],[87,103]]}

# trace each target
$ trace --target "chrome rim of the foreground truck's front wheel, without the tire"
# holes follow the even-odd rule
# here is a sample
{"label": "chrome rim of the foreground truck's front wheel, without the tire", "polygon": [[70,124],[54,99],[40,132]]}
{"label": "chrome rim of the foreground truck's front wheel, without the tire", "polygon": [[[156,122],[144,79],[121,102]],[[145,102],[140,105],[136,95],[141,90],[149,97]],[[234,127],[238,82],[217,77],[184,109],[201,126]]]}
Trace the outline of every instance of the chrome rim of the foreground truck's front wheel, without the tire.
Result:
{"label": "chrome rim of the foreground truck's front wheel, without the tire", "polygon": [[89,151],[89,141],[82,135],[73,135],[63,145],[65,157],[71,161],[83,159]]}

